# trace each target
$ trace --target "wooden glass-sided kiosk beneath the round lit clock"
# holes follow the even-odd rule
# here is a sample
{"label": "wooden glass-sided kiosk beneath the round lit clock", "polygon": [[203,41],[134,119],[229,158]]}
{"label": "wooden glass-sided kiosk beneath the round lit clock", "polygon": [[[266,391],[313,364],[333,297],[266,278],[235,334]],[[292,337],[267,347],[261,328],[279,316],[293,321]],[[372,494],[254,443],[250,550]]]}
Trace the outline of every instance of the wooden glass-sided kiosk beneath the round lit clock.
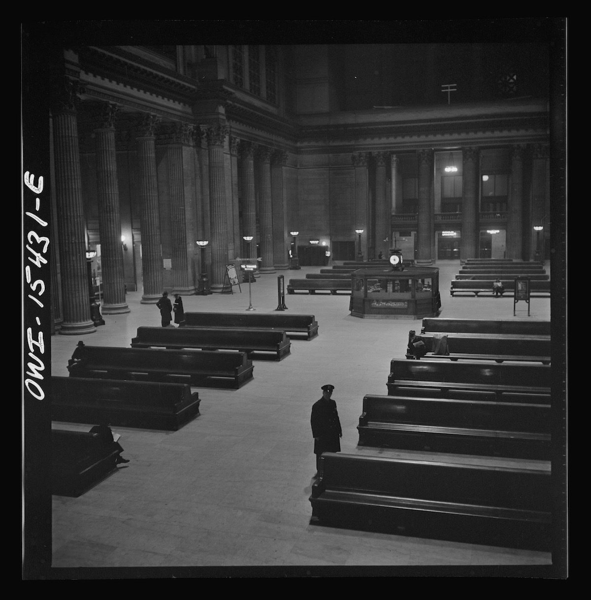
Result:
{"label": "wooden glass-sided kiosk beneath the round lit clock", "polygon": [[421,319],[441,311],[439,269],[357,269],[351,274],[350,313],[364,319]]}

